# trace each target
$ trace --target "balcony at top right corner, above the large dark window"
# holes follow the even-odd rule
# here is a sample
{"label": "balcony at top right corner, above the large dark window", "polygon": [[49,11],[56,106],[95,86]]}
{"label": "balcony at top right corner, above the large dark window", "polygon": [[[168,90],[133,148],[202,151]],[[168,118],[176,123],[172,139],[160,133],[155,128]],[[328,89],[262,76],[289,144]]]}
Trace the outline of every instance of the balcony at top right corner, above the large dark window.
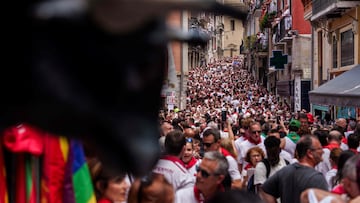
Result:
{"label": "balcony at top right corner, above the large dark window", "polygon": [[321,18],[339,18],[348,9],[360,5],[360,1],[314,0],[311,21]]}

